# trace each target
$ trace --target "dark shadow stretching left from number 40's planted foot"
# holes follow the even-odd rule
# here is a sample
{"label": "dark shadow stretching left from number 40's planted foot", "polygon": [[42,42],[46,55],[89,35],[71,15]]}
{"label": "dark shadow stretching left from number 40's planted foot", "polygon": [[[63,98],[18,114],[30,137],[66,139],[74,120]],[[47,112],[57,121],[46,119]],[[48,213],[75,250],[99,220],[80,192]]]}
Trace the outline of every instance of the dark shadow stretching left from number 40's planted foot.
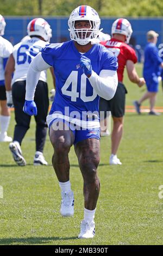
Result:
{"label": "dark shadow stretching left from number 40's planted foot", "polygon": [[49,243],[52,241],[63,241],[63,240],[75,240],[78,239],[77,236],[72,237],[27,237],[27,238],[4,238],[0,239],[0,245],[12,245],[14,244],[27,244],[28,245],[34,245],[34,244],[41,244],[41,243]]}

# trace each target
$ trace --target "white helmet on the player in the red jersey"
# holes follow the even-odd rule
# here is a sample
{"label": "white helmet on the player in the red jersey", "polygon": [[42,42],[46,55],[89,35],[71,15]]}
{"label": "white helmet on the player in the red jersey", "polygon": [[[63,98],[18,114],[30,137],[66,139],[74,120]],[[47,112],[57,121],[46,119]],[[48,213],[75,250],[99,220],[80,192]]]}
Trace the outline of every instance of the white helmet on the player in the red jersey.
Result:
{"label": "white helmet on the player in the red jersey", "polygon": [[128,20],[117,19],[112,23],[111,35],[113,34],[126,35],[127,44],[129,44],[129,40],[132,33],[133,33],[133,29],[131,28],[130,22]]}

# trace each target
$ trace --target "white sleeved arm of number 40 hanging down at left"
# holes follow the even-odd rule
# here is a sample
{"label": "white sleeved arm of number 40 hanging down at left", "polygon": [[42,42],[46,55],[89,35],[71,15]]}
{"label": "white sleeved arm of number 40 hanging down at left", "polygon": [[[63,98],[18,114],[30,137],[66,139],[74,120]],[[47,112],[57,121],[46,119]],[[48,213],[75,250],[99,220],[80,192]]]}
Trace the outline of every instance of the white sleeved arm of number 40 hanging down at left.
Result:
{"label": "white sleeved arm of number 40 hanging down at left", "polygon": [[43,70],[51,68],[49,64],[43,60],[41,52],[36,55],[29,65],[27,80],[26,80],[26,100],[33,101],[36,85],[39,81],[40,73]]}

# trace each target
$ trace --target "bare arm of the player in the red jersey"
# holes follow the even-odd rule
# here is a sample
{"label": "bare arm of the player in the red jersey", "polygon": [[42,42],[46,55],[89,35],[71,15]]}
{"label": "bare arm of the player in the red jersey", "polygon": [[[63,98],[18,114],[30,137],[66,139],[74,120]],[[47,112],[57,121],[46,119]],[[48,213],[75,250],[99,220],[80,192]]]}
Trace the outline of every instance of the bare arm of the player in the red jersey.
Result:
{"label": "bare arm of the player in the red jersey", "polygon": [[137,75],[135,65],[132,60],[127,60],[126,68],[127,68],[127,74],[128,74],[129,80],[133,83],[136,83],[137,86],[142,87],[143,84],[145,84],[145,80],[143,77],[140,78]]}

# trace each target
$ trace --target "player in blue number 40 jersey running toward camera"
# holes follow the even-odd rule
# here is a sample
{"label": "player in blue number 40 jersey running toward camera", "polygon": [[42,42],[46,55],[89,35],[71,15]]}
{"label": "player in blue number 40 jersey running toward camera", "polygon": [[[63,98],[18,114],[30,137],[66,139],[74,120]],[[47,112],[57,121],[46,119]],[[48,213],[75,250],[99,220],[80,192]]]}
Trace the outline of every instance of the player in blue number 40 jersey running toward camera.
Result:
{"label": "player in blue number 40 jersey running toward camera", "polygon": [[36,115],[34,92],[41,70],[51,66],[56,93],[47,117],[54,148],[52,163],[61,188],[62,216],[74,214],[68,153],[74,144],[84,180],[84,220],[79,238],[95,235],[99,196],[99,96],[110,100],[117,88],[117,58],[98,42],[101,20],[87,5],[74,9],[68,20],[70,41],[49,44],[29,66],[24,112]]}

